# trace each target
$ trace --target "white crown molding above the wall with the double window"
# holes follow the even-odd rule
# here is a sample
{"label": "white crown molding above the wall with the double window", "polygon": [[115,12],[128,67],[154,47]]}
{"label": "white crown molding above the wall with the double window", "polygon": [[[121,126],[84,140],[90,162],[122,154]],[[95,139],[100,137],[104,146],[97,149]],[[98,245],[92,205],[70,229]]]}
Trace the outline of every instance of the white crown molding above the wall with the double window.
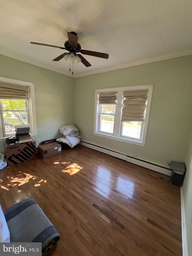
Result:
{"label": "white crown molding above the wall with the double window", "polygon": [[146,63],[161,61],[161,60],[165,60],[165,59],[173,59],[173,58],[182,57],[182,56],[186,56],[186,55],[190,55],[190,54],[192,54],[192,50],[182,51],[182,52],[179,52],[179,53],[166,54],[166,55],[163,55],[163,56],[158,56],[158,57],[150,58],[150,59],[144,59],[144,60],[131,62],[131,63],[115,66],[115,67],[99,69],[97,71],[92,71],[92,72],[87,72],[87,73],[80,74],[80,75],[75,75],[74,77],[75,78],[84,77],[84,76],[88,76],[88,75],[104,73],[104,72],[107,72],[107,71],[113,71],[113,70],[117,70],[117,69],[129,68],[129,67],[133,67],[133,66],[146,64]]}

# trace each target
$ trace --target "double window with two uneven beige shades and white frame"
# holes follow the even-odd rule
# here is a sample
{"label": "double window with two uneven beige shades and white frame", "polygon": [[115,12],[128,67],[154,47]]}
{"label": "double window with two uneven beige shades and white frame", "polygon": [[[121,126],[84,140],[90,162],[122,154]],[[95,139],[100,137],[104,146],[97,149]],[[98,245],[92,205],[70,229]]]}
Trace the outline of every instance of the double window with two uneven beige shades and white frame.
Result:
{"label": "double window with two uneven beige shades and white frame", "polygon": [[153,85],[95,90],[94,134],[145,146]]}

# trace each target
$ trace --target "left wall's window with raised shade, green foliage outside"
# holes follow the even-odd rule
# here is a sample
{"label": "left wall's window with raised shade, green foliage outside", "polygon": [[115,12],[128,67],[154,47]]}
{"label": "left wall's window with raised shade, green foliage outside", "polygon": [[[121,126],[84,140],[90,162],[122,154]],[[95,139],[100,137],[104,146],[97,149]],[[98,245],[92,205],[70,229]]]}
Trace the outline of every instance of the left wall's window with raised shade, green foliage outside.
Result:
{"label": "left wall's window with raised shade, green foliage outside", "polygon": [[35,135],[35,98],[33,83],[0,77],[0,139],[15,134],[15,124],[31,124]]}

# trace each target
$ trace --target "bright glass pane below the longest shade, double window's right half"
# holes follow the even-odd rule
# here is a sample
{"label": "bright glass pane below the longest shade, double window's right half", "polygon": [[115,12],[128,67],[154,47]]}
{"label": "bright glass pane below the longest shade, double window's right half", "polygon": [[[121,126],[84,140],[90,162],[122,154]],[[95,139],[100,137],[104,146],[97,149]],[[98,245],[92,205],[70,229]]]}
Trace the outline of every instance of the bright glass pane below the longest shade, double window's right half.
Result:
{"label": "bright glass pane below the longest shade, double window's right half", "polygon": [[122,136],[140,138],[142,122],[123,122]]}

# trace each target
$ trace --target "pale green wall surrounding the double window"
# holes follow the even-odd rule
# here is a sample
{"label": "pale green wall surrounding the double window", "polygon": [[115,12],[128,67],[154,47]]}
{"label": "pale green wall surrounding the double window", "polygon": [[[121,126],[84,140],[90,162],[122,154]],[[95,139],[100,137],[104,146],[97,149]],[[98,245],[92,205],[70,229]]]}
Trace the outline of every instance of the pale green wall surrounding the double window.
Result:
{"label": "pale green wall surrounding the double window", "polygon": [[[75,79],[75,125],[82,140],[167,166],[185,161],[192,127],[192,55]],[[145,147],[93,135],[95,89],[154,84]]]}

